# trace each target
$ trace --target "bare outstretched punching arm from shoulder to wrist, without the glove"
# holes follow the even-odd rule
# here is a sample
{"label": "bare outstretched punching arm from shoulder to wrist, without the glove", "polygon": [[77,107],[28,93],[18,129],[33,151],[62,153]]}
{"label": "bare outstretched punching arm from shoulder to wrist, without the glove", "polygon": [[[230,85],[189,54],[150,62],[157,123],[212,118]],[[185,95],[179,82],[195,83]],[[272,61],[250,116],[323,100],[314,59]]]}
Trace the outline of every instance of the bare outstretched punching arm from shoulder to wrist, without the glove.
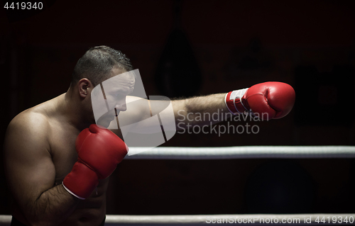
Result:
{"label": "bare outstretched punching arm from shoulder to wrist, without the glove", "polygon": [[[146,134],[161,132],[160,124],[156,120],[150,120],[152,116],[157,114],[159,115],[160,122],[165,122],[165,131],[182,129],[187,125],[210,125],[211,122],[212,124],[219,123],[222,118],[226,120],[226,117],[233,115],[226,108],[224,96],[226,94],[212,94],[171,102],[127,96],[127,111],[120,113],[119,125],[120,128],[124,127],[123,133],[128,130]],[[208,116],[212,114],[214,115],[213,118]],[[223,117],[222,114],[224,114]],[[204,115],[205,120],[197,119],[200,115],[202,117]],[[174,118],[173,123],[170,123],[172,121],[171,118]],[[121,137],[121,130],[117,130],[116,128],[118,126],[115,119],[111,121],[109,129]]]}

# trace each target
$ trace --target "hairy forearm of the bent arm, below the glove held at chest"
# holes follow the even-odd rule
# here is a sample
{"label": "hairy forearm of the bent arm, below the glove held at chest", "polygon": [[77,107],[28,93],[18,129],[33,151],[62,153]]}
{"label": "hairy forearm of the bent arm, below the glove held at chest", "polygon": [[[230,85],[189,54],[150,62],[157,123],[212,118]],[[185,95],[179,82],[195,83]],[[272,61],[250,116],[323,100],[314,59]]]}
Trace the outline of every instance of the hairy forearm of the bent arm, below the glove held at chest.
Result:
{"label": "hairy forearm of the bent arm, below the glove held at chest", "polygon": [[28,203],[26,218],[31,225],[60,225],[74,212],[79,201],[58,185]]}

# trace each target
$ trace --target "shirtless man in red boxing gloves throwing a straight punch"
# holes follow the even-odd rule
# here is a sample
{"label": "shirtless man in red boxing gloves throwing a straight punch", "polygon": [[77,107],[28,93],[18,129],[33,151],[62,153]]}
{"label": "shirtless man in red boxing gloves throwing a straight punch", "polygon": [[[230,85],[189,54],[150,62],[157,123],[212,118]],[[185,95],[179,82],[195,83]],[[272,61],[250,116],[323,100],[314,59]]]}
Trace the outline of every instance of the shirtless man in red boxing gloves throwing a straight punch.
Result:
{"label": "shirtless man in red boxing gloves throwing a straight punch", "polygon": [[[120,125],[151,117],[151,111],[139,105],[126,111],[126,101],[141,100],[128,96],[135,78],[125,72],[131,70],[129,59],[121,52],[106,46],[93,47],[77,62],[65,94],[11,120],[4,145],[6,178],[14,200],[11,225],[104,225],[108,176],[127,153],[121,132],[114,131],[120,139],[104,127],[119,114]],[[112,77],[117,77],[124,88],[117,95],[114,111],[97,120],[99,125],[92,125],[92,90]],[[107,93],[105,98],[110,96],[116,94]],[[188,113],[214,113],[219,109],[281,118],[290,112],[294,101],[292,87],[266,83],[252,86],[249,91],[172,104],[175,119],[181,121]],[[98,123],[100,120],[102,123]]]}

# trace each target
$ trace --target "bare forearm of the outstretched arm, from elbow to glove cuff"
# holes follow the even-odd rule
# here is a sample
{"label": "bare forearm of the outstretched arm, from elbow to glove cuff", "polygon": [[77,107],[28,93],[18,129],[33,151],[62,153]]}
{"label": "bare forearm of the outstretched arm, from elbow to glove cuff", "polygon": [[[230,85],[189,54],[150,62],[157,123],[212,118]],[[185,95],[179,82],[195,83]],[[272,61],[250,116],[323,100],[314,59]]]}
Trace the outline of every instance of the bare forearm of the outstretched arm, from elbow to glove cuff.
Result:
{"label": "bare forearm of the outstretched arm, from elbow to glove cuff", "polygon": [[225,96],[226,94],[212,94],[172,101],[176,123],[210,125],[226,120],[233,114],[226,108]]}

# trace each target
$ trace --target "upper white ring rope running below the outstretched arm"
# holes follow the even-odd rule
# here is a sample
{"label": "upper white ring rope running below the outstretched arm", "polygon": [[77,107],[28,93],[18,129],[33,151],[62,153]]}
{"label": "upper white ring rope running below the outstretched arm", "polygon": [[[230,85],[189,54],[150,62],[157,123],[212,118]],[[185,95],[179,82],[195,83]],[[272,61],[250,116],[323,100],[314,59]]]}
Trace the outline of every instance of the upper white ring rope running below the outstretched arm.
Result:
{"label": "upper white ring rope running below the outstretched arm", "polygon": [[[130,147],[141,152],[146,148]],[[125,159],[355,158],[355,146],[154,147]]]}

